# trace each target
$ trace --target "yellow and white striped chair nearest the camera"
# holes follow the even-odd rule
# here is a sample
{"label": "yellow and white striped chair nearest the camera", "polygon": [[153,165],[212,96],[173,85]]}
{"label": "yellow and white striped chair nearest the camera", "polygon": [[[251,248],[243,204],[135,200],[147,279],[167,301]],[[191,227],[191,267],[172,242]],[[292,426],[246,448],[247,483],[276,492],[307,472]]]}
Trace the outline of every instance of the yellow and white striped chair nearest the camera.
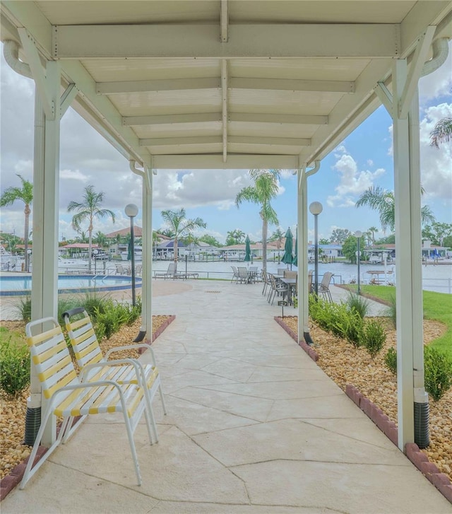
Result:
{"label": "yellow and white striped chair nearest the camera", "polygon": [[[42,328],[49,327],[49,325],[51,328]],[[39,329],[35,335],[33,335],[33,332],[35,332],[34,327]],[[143,387],[133,383],[131,378],[126,376],[126,373],[129,373],[129,371],[124,366],[117,366],[108,378],[104,376],[96,380],[86,381],[86,377],[83,376],[83,370],[78,376],[73,366],[64,334],[54,317],[44,317],[28,323],[25,327],[25,334],[27,335],[32,362],[35,365],[37,377],[41,382],[42,395],[48,399],[48,402],[44,416],[42,416],[40,430],[37,433],[35,444],[25,468],[20,489],[25,487],[30,477],[37,472],[37,469],[41,467],[55,448],[61,442],[66,443],[66,440],[81,421],[85,419],[85,416],[115,412],[121,412],[124,416],[136,478],[138,485],[141,485],[141,473],[138,466],[133,433],[143,412],[145,413],[149,440],[151,444],[153,442],[150,427],[152,413],[148,411],[148,402],[146,401]],[[138,366],[133,368],[133,373],[139,376],[141,370]],[[126,381],[120,384],[119,380]],[[57,440],[47,450],[44,457],[32,467],[37,449],[42,440],[44,428],[52,415],[63,418]],[[82,417],[73,425],[73,418],[75,416]]]}

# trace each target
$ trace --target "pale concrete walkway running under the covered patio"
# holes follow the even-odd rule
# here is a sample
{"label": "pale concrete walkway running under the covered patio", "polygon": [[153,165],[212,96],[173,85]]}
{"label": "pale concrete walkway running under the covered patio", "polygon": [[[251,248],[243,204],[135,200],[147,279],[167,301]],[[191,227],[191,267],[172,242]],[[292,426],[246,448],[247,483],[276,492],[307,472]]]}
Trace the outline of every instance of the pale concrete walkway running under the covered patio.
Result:
{"label": "pale concrete walkway running under the covered patio", "polygon": [[153,345],[168,415],[156,397],[157,445],[136,431],[143,485],[124,425],[93,416],[2,513],[451,513],[273,320],[260,284],[178,284],[156,286],[170,293],[154,314],[177,317]]}

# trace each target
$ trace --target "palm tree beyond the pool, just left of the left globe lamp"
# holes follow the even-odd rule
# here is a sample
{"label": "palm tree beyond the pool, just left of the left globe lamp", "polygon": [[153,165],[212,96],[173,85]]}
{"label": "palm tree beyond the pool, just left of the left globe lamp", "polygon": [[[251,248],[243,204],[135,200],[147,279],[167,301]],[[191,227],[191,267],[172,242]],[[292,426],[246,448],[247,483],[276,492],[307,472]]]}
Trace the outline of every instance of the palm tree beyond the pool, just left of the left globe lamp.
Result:
{"label": "palm tree beyond the pool, just left of the left globe lamp", "polygon": [[88,220],[88,271],[91,271],[91,253],[93,247],[93,221],[95,218],[105,218],[110,216],[114,223],[114,212],[109,209],[100,209],[100,204],[104,201],[104,193],[96,193],[93,185],[85,187],[83,194],[83,201],[70,201],[68,205],[68,212],[77,211],[72,218],[72,226],[78,232],[81,230],[81,223]]}

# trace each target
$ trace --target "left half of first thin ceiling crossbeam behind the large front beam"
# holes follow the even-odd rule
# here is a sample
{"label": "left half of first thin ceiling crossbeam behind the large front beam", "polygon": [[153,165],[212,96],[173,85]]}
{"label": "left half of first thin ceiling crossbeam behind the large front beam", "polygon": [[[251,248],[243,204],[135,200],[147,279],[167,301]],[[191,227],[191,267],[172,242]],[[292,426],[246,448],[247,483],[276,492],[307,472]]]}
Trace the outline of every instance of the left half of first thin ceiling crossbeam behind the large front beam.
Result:
{"label": "left half of first thin ceiling crossbeam behind the large front beam", "polygon": [[220,78],[173,78],[171,80],[98,82],[96,92],[99,95],[114,93],[142,93],[157,91],[177,91],[194,89],[220,89]]}

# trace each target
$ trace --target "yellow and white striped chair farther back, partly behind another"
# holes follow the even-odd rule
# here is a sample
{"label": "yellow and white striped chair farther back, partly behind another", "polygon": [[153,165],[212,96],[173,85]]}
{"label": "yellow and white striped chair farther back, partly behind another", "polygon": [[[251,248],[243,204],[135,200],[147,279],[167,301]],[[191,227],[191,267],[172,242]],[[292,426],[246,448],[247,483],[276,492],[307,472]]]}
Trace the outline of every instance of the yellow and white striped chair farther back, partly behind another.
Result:
{"label": "yellow and white striped chair farther back, partly behind another", "polygon": [[[121,367],[125,367],[129,370],[129,375],[131,373],[131,378],[129,380],[136,383],[136,373],[134,373],[134,368],[138,366],[141,371],[140,376],[142,377],[141,385],[148,397],[150,412],[152,413],[152,401],[155,397],[155,393],[158,391],[160,392],[163,412],[164,414],[167,414],[165,398],[163,396],[162,385],[160,383],[160,375],[155,363],[154,351],[148,344],[116,346],[115,348],[109,349],[105,356],[103,356],[102,350],[99,346],[99,341],[97,341],[97,337],[93,329],[93,324],[91,323],[90,316],[86,312],[85,308],[76,307],[68,310],[66,313],[63,313],[63,319],[66,324],[66,329],[76,356],[78,367],[83,370],[83,373],[85,373],[85,376],[89,380],[99,380],[100,378],[105,377],[108,378],[109,373],[112,373],[109,368],[110,366],[125,365]],[[134,358],[116,359],[114,361],[108,360],[109,356],[115,351],[140,348],[149,351],[152,364],[145,364]],[[102,367],[102,364],[105,366]],[[122,383],[124,380],[126,380],[126,378],[118,379],[117,381]],[[155,425],[153,415],[151,421],[153,424],[155,440],[158,442],[157,426]]]}

